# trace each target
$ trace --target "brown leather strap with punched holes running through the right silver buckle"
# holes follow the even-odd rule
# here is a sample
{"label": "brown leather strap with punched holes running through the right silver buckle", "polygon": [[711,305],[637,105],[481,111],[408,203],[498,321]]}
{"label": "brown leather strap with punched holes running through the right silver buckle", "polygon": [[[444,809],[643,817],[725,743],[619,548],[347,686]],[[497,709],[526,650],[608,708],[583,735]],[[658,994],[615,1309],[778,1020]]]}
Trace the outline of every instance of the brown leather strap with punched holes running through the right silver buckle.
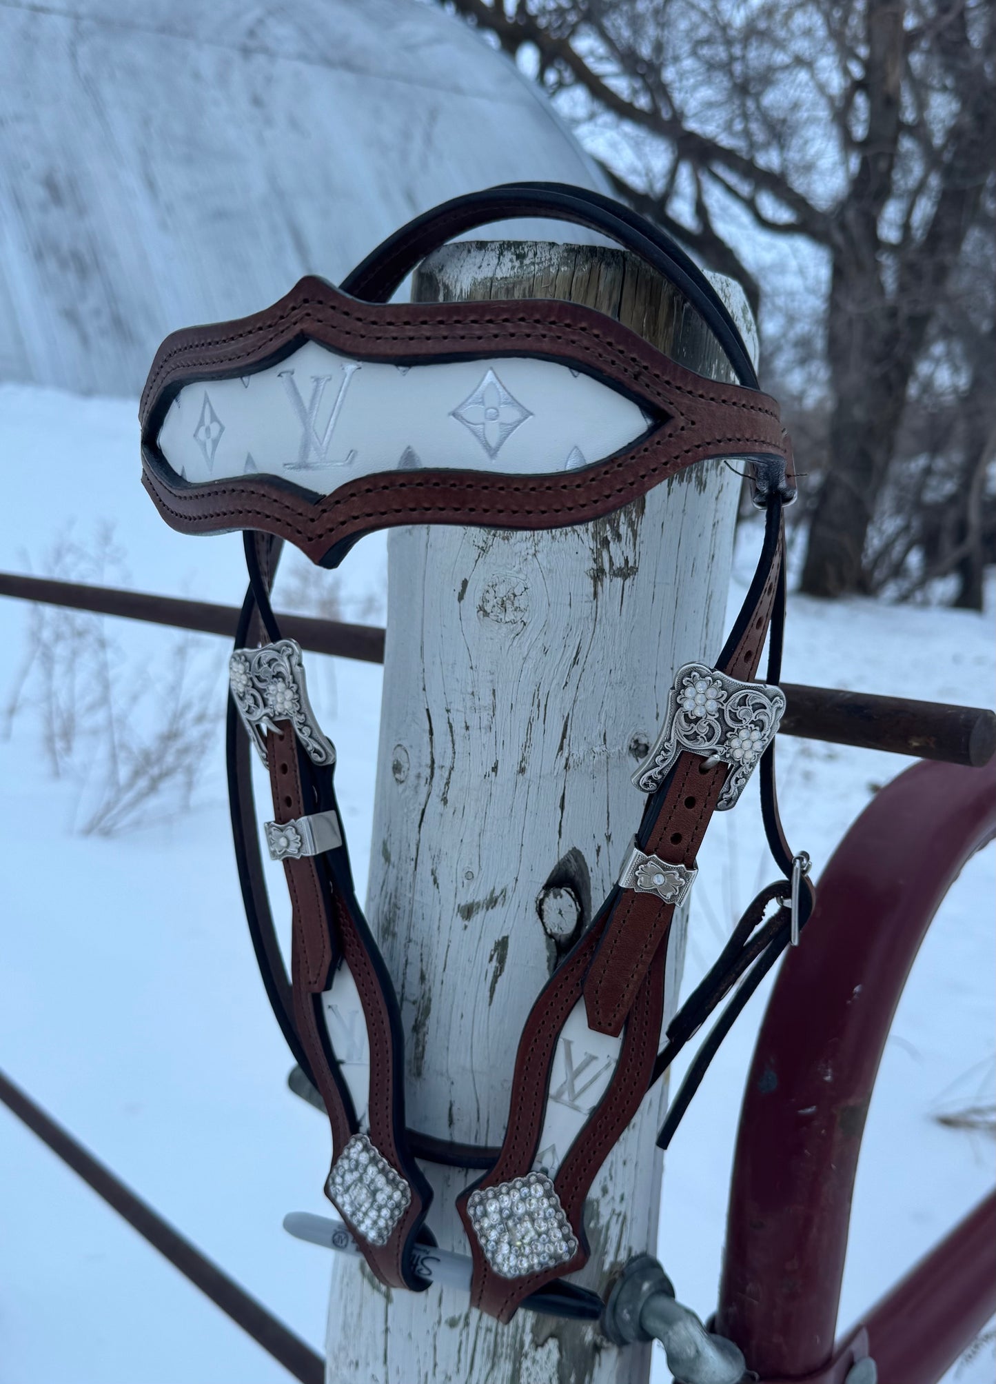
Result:
{"label": "brown leather strap with punched holes running through the right silver buckle", "polygon": [[[730,677],[748,680],[757,673],[777,591],[783,544],[784,538],[779,537],[751,619],[721,670]],[[694,865],[729,772],[726,765],[703,772],[701,764],[699,754],[685,753],[679,757],[671,787],[645,843],[649,855],[674,865]],[[620,894],[584,984],[585,1013],[591,1028],[607,1034],[621,1031],[636,990],[664,943],[672,918],[674,905],[661,904],[653,894],[638,894],[634,890]]]}

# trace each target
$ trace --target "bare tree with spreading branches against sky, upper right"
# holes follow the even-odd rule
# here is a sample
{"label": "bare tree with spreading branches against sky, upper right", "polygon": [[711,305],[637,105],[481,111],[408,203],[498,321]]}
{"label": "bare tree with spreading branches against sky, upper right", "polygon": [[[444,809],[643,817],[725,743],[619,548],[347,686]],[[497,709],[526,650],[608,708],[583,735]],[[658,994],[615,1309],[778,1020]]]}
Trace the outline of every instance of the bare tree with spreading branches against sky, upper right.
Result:
{"label": "bare tree with spreading branches against sky, upper right", "polygon": [[[945,309],[970,230],[992,244],[992,4],[445,3],[534,72],[621,197],[736,277],[753,306],[777,295],[779,266],[737,249],[744,219],[786,253],[809,251],[822,321],[805,322],[805,350],[822,367],[826,440],[802,584],[867,590],[888,567],[869,562],[869,533],[892,464],[910,455],[909,406],[913,421],[937,418],[931,389],[950,393]],[[764,321],[771,345],[786,313]],[[995,385],[979,357],[972,392]],[[986,465],[982,447],[961,482],[975,508],[942,544],[941,566],[963,549],[963,603],[981,599]]]}

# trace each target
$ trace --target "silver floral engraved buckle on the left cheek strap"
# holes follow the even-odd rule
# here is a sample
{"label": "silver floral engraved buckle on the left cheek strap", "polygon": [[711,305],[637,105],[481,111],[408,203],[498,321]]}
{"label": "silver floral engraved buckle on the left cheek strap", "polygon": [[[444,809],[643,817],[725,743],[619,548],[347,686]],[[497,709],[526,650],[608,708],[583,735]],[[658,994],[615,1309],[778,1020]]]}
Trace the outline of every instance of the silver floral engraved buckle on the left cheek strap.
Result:
{"label": "silver floral engraved buckle on the left cheek strap", "polygon": [[335,746],[322,735],[308,702],[296,639],[278,639],[261,649],[235,649],[228,660],[228,681],[242,724],[264,764],[264,736],[277,729],[278,721],[290,721],[313,764],[335,764]]}

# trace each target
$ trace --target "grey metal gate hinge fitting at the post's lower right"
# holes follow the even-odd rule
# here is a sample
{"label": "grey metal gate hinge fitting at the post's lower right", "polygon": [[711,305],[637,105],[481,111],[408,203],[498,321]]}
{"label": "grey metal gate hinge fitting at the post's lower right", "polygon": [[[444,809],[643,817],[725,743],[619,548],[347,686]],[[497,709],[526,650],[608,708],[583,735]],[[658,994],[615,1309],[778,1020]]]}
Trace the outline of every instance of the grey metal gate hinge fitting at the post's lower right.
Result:
{"label": "grey metal gate hinge fitting at the post's lower right", "polygon": [[609,1294],[602,1327],[616,1345],[656,1338],[678,1384],[739,1384],[744,1358],[723,1336],[712,1336],[690,1308],[675,1302],[674,1287],[650,1254],[638,1254]]}

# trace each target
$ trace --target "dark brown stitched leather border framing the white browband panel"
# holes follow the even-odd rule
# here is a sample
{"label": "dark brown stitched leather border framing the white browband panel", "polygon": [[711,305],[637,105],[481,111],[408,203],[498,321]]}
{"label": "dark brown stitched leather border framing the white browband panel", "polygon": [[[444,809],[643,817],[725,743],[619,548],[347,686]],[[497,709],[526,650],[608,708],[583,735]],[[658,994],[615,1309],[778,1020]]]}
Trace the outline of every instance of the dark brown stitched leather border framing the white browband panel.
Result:
{"label": "dark brown stitched leather border framing the white browband panel", "polygon": [[[533,356],[584,370],[636,399],[660,424],[632,447],[570,473],[509,476],[425,468],[382,472],[315,497],[278,477],[188,484],[159,453],[162,418],[183,385],[261,370],[306,339],[361,360]],[[140,408],[142,483],[169,525],[187,533],[257,529],[314,562],[372,529],[414,522],[549,529],[581,523],[710,457],[775,457],[793,476],[777,403],[696,375],[620,322],[577,303],[361,303],[303,278],[252,317],[167,336]]]}

